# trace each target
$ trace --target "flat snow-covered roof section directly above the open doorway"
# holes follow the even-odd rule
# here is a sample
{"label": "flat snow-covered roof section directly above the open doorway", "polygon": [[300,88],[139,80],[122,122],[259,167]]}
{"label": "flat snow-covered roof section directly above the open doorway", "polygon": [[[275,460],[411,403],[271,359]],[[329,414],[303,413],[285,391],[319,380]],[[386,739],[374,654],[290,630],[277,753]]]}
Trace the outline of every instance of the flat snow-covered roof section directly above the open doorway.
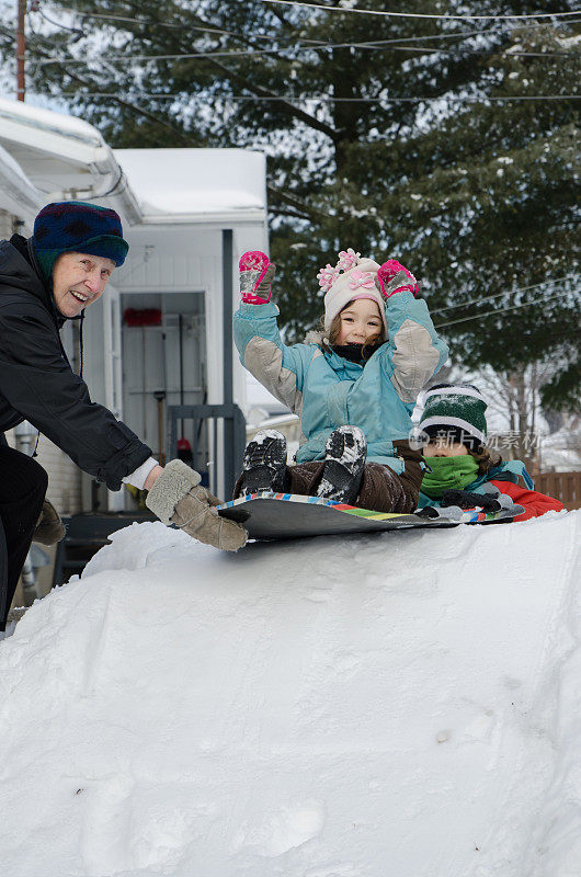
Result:
{"label": "flat snow-covered roof section directly above the open doorway", "polygon": [[248,149],[115,149],[146,221],[263,219],[265,157]]}

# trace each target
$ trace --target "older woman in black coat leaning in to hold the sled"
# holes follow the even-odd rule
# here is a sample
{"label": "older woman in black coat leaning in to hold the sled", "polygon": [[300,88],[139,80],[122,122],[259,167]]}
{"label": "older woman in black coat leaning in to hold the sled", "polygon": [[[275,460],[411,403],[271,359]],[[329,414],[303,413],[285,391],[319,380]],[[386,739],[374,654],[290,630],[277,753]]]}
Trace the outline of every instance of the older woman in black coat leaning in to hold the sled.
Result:
{"label": "older woman in black coat leaning in to hold the sled", "polygon": [[[147,503],[166,524],[219,548],[244,544],[243,528],[218,517],[218,500],[200,475],[181,460],[159,466],[128,426],[91,401],[67,360],[60,329],[82,319],[127,250],[115,210],[73,201],[44,207],[32,238],[0,241],[0,631],[47,486],[44,469],[3,441],[3,432],[23,420],[110,490],[123,482],[149,490]],[[54,512],[48,528],[62,535]]]}

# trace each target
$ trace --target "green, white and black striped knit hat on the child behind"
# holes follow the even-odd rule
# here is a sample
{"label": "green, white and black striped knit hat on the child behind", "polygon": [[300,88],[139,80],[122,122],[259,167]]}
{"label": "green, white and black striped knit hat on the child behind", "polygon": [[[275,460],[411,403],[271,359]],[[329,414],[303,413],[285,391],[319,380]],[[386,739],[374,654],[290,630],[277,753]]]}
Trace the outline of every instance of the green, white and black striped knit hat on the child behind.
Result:
{"label": "green, white and black striped knit hat on the child behind", "polygon": [[420,428],[430,438],[444,435],[471,451],[486,445],[488,406],[471,384],[437,384],[424,395],[424,402]]}

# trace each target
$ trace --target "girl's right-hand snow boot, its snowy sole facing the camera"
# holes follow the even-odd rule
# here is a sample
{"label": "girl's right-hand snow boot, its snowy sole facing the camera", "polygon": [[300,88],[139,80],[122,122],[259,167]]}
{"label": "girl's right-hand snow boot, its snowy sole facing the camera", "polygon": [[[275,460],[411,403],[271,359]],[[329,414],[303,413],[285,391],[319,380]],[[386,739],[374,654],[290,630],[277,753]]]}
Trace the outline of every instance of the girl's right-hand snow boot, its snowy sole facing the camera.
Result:
{"label": "girl's right-hand snow boot, its snowy sole facing the camera", "polygon": [[352,505],[358,497],[367,442],[358,426],[339,426],[324,446],[324,466],[317,496]]}

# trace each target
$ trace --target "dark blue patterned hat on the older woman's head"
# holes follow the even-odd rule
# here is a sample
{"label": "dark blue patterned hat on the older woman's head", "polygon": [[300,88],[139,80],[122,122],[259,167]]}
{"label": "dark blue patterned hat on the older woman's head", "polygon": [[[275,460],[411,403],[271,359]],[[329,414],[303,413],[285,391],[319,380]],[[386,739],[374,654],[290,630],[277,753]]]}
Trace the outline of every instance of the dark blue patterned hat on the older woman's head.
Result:
{"label": "dark blue patterned hat on the older woman's head", "polygon": [[58,201],[43,207],[34,220],[32,242],[45,281],[61,253],[76,252],[111,259],[123,265],[129,244],[123,239],[115,210],[83,201]]}

